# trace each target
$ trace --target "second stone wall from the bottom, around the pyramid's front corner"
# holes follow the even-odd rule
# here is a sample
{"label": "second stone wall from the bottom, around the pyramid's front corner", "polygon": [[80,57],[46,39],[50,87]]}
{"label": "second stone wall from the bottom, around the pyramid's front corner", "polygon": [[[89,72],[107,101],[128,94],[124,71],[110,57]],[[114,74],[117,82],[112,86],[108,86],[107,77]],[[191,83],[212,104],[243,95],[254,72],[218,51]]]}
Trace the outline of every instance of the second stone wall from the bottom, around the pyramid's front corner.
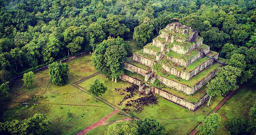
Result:
{"label": "second stone wall from the bottom, around the pyramid's front corner", "polygon": [[181,84],[179,82],[176,82],[171,79],[167,79],[163,76],[157,76],[157,79],[164,85],[167,85],[169,87],[175,88],[176,90],[182,91],[186,93],[187,95],[192,95],[195,91],[197,91],[199,88],[201,88],[204,84],[206,84],[209,80],[211,80],[216,75],[217,69],[209,73],[208,76],[206,76],[204,79],[202,79],[200,82],[198,82],[194,87],[190,88],[189,86],[186,86],[184,84]]}

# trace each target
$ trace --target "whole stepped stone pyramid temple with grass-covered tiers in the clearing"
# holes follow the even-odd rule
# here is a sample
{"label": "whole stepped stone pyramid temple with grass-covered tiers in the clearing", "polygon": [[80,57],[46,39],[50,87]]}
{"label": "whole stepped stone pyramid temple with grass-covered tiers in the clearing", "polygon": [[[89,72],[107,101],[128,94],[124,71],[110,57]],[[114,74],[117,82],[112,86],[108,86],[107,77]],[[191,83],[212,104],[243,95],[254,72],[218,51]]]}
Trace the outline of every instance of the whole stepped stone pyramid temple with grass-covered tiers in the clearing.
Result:
{"label": "whole stepped stone pyramid temple with grass-covered tiers in the clearing", "polygon": [[209,98],[205,85],[225,60],[218,55],[197,31],[175,22],[127,59],[120,78],[195,111]]}

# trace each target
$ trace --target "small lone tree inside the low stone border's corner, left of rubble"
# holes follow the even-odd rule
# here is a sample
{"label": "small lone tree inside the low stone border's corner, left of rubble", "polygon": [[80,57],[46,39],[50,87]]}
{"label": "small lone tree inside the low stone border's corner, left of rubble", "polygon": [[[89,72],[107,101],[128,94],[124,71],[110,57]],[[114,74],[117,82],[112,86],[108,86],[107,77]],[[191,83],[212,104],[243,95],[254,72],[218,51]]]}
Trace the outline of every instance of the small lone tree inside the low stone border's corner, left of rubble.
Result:
{"label": "small lone tree inside the low stone border's corner, left of rubble", "polygon": [[97,98],[103,95],[107,90],[108,88],[99,79],[95,79],[87,92],[95,96],[97,102]]}

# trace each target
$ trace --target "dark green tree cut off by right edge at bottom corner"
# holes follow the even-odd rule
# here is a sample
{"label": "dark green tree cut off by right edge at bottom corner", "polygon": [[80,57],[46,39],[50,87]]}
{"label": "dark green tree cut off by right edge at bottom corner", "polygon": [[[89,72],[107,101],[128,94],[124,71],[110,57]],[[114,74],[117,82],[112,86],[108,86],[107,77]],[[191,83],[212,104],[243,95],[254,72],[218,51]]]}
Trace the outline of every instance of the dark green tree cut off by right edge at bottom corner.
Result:
{"label": "dark green tree cut off by right edge at bottom corner", "polygon": [[256,135],[256,102],[250,109],[248,128],[246,131],[250,132],[252,135]]}

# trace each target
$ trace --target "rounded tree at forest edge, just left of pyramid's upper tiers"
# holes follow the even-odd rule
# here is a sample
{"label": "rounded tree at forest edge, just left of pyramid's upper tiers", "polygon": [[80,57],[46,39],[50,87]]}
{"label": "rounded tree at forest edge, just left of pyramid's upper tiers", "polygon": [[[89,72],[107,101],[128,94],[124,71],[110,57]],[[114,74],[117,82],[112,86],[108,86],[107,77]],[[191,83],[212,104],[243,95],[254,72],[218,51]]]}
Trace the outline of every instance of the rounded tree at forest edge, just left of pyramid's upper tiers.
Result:
{"label": "rounded tree at forest edge, just left of pyramid's upper tiers", "polygon": [[134,28],[133,40],[141,48],[151,41],[154,26],[149,23],[142,23]]}

